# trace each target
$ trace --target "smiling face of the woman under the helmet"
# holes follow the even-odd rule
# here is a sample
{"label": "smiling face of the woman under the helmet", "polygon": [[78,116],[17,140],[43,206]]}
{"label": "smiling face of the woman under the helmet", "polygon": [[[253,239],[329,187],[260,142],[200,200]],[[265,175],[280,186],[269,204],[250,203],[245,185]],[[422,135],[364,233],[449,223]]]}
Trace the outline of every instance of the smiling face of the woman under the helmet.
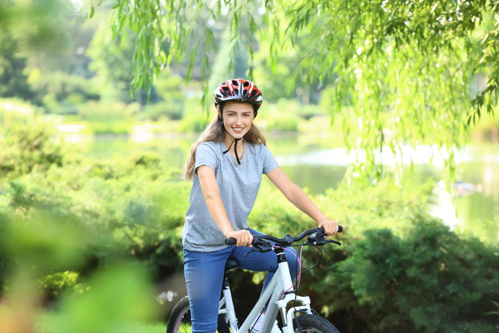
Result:
{"label": "smiling face of the woman under the helmet", "polygon": [[253,107],[248,103],[227,102],[222,109],[225,129],[236,139],[248,133],[253,118]]}

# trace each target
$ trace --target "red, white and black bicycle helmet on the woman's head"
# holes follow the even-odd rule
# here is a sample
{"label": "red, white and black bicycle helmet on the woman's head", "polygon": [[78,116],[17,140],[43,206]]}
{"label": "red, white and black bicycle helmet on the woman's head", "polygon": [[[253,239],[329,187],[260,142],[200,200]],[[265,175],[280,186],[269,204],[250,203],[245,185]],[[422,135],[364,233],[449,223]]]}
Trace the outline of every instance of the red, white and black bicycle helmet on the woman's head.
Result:
{"label": "red, white and black bicycle helmet on the woman's head", "polygon": [[233,78],[222,82],[215,89],[214,99],[215,106],[222,102],[236,100],[256,105],[256,110],[263,102],[260,89],[253,82],[242,78]]}

